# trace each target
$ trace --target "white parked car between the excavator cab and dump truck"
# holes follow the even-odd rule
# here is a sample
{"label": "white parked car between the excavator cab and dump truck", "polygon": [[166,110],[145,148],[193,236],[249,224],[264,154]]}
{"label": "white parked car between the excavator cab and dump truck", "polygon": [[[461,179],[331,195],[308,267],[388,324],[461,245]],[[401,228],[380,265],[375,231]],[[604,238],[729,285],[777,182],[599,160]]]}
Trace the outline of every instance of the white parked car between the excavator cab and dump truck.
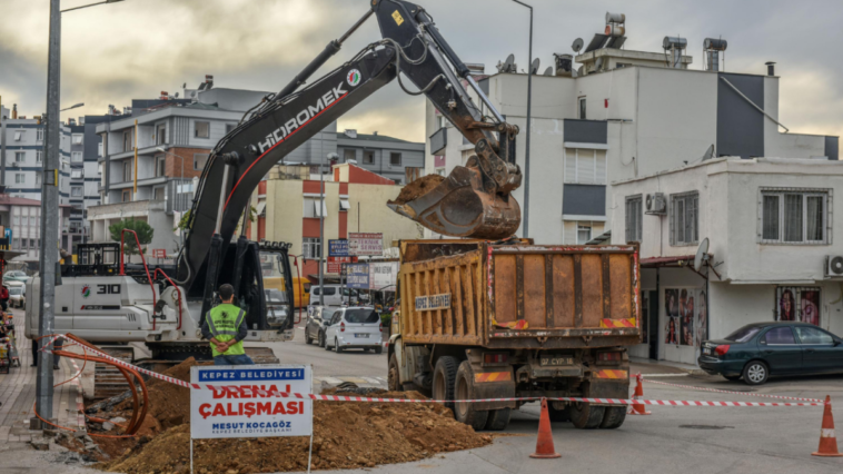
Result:
{"label": "white parked car between the excavator cab and dump truck", "polygon": [[339,308],[325,329],[325,350],[375,349],[384,352],[380,315],[371,307]]}

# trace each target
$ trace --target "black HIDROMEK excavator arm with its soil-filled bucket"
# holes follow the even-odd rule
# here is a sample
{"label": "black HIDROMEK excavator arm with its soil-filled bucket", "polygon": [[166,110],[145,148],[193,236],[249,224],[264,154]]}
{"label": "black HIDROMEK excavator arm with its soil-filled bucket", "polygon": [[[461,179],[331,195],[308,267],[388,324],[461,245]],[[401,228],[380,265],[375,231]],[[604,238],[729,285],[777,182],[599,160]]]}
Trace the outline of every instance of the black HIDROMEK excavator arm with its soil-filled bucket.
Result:
{"label": "black HIDROMEK excavator arm with its soil-filled bucket", "polygon": [[[306,85],[310,75],[373,14],[384,39]],[[418,91],[405,87],[401,73]],[[427,96],[475,145],[477,156],[440,182],[422,178],[409,184],[405,187],[409,191],[403,191],[389,206],[440,234],[498,239],[515,233],[520,209],[509,192],[520,185],[520,171],[515,165],[517,128],[506,124],[489,103],[424,9],[406,1],[371,0],[366,16],[331,41],[280,92],[247,112],[210,154],[178,260],[178,282],[190,294],[204,294],[206,309],[210,307],[209,295],[221,279],[224,249],[229,248],[238,223],[248,215],[245,210],[258,182],[285,156],[396,78],[405,91]],[[490,118],[472,101],[464,83],[480,97]],[[422,180],[427,187],[414,188]]]}

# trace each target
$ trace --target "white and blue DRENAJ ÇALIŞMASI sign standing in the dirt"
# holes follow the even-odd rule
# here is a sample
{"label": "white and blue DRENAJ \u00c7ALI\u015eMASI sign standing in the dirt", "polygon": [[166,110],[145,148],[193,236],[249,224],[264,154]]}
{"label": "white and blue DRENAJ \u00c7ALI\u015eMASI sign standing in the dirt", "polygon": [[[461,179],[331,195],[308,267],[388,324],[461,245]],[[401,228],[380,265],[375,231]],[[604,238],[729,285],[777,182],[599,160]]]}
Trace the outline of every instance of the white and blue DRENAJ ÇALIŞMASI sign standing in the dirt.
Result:
{"label": "white and blue DRENAJ \u00c7ALI\u015eMASI sign standing in the dirt", "polygon": [[202,386],[190,391],[192,438],[309,436],[313,431],[313,401],[258,393],[310,394],[309,365],[195,366],[190,382]]}

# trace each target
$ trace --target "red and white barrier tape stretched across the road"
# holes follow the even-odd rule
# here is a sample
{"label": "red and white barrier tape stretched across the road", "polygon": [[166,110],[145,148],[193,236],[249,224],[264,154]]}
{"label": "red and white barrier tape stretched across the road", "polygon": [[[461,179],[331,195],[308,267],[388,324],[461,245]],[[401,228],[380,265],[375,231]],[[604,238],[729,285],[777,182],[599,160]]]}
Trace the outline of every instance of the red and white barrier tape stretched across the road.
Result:
{"label": "red and white barrier tape stretched across the road", "polygon": [[[60,337],[60,336],[59,336]],[[53,339],[54,340],[54,339]],[[71,344],[81,345],[72,339],[65,339]],[[51,352],[46,348],[41,350]],[[106,357],[116,364],[131,368],[139,373],[149,375],[150,377],[159,378],[161,381],[169,382],[182,386],[185,388],[194,389],[209,389],[216,392],[227,392],[234,397],[254,397],[256,394],[260,396],[272,396],[280,398],[299,398],[299,399],[314,399],[323,402],[368,402],[368,403],[453,403],[455,401],[445,399],[408,399],[408,398],[376,398],[376,397],[363,397],[363,396],[347,396],[347,395],[315,395],[315,394],[297,394],[285,393],[277,391],[266,391],[252,386],[236,386],[236,385],[200,385],[189,382],[180,381],[178,378],[168,377],[167,375],[159,374],[157,372],[147,371],[145,368],[137,367],[119,358],[112,357],[101,350],[85,346],[87,350]],[[652,382],[652,381],[649,381]],[[668,399],[631,399],[631,398],[585,398],[585,397],[509,397],[509,398],[480,398],[480,399],[460,399],[458,403],[483,403],[483,402],[535,402],[539,399],[551,399],[559,402],[586,402],[596,403],[602,405],[662,405],[662,406],[824,406],[825,402],[810,402],[810,403],[771,403],[771,402],[704,402],[704,401],[668,401]]]}

